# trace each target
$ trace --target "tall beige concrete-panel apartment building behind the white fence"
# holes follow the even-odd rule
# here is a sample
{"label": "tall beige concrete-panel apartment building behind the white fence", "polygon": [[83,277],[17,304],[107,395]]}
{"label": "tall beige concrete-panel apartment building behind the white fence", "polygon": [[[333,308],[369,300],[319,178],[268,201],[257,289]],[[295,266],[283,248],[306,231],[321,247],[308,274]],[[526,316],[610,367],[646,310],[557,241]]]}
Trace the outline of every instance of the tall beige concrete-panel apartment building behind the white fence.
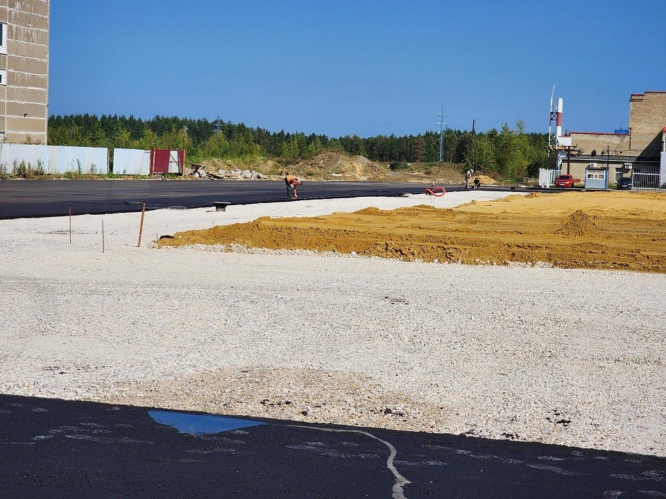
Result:
{"label": "tall beige concrete-panel apartment building behind the white fence", "polygon": [[50,0],[0,0],[0,142],[46,144]]}

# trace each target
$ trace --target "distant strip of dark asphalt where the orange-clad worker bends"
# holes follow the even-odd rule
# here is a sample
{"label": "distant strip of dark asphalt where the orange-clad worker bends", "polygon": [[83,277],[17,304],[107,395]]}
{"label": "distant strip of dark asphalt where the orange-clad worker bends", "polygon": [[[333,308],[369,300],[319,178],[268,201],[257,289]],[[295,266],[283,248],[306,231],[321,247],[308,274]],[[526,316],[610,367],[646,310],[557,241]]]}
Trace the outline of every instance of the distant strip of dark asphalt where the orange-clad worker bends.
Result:
{"label": "distant strip of dark asphalt where the orange-clad worker bends", "polygon": [[[423,193],[430,184],[407,182],[305,182],[300,200],[357,198]],[[463,186],[445,186],[461,191]],[[482,187],[509,191],[509,188]],[[521,189],[516,189],[521,191]],[[525,189],[522,189],[525,191]],[[3,180],[0,181],[0,219],[84,213],[121,213],[157,208],[212,207],[287,201],[283,181],[269,180]]]}

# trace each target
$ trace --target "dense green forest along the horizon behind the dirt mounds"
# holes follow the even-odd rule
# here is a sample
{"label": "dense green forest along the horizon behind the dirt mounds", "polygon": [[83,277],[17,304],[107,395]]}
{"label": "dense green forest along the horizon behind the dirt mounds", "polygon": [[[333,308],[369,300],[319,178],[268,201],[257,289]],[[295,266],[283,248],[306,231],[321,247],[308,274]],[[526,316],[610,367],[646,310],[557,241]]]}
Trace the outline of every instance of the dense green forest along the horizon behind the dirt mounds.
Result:
{"label": "dense green forest along the horizon behind the dirt mounds", "polygon": [[[376,137],[327,137],[304,133],[271,132],[244,123],[181,119],[155,116],[150,120],[134,116],[101,117],[89,114],[51,116],[49,144],[108,148],[185,149],[190,161],[211,157],[252,159],[268,157],[282,161],[307,159],[325,150],[362,155],[373,161],[386,161],[393,168],[407,164],[436,162],[439,132]],[[507,178],[535,176],[547,161],[547,135],[527,133],[524,123],[515,128],[503,123],[499,130],[472,133],[446,130],[444,157],[448,163],[474,166]]]}

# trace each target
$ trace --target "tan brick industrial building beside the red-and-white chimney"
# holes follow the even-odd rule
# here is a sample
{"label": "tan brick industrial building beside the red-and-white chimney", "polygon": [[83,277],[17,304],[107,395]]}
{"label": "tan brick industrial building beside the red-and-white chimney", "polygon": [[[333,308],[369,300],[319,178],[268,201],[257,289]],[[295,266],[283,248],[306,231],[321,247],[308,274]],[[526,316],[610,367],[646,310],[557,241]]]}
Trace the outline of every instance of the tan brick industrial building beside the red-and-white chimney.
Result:
{"label": "tan brick industrial building beside the red-and-white chimney", "polygon": [[[634,177],[638,189],[659,189],[666,182],[666,91],[631,94],[627,130],[570,132],[567,137],[582,152],[570,158],[574,177],[584,180],[588,175],[603,175],[608,166],[610,184],[620,177]],[[565,153],[561,153],[561,168],[563,173],[567,171]]]}

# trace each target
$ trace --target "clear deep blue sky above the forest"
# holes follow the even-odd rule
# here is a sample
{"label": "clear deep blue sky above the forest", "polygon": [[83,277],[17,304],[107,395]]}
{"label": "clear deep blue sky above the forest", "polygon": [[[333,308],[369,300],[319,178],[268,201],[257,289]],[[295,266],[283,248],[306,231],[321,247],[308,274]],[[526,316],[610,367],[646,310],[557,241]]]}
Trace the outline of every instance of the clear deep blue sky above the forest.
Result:
{"label": "clear deep blue sky above the forest", "polygon": [[666,7],[632,1],[51,2],[51,114],[155,114],[268,130],[418,134],[626,127],[666,90]]}

